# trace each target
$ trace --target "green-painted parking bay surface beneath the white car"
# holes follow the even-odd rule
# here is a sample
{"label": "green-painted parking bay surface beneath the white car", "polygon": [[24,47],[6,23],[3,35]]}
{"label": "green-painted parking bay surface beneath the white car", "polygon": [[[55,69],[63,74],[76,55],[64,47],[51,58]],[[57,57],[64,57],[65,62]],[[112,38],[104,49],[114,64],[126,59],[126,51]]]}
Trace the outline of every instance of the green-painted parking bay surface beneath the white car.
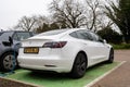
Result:
{"label": "green-painted parking bay surface beneath the white car", "polygon": [[87,70],[86,75],[79,79],[73,79],[67,74],[56,73],[32,73],[27,70],[17,70],[15,74],[6,76],[8,78],[17,79],[26,83],[36,84],[43,87],[83,87],[96,77],[103,75],[119,63],[99,64]]}

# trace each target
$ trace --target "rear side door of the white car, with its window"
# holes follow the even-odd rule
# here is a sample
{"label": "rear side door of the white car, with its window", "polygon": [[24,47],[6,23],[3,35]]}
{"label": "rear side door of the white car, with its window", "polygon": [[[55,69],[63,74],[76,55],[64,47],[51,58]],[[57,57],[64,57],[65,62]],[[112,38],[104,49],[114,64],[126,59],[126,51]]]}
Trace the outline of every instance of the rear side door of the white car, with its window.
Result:
{"label": "rear side door of the white car, with its window", "polygon": [[95,60],[99,59],[99,47],[95,41],[93,41],[92,35],[86,30],[78,30],[77,33],[77,38],[80,39],[80,42],[82,44],[82,48],[86,51],[88,55],[88,65],[93,65],[96,63]]}

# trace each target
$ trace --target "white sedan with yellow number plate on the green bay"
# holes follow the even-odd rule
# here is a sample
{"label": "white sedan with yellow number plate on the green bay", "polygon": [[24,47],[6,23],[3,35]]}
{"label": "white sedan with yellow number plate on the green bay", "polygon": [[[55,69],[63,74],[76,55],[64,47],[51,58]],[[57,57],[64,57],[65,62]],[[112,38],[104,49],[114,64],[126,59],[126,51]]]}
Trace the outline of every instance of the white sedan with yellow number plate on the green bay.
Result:
{"label": "white sedan with yellow number plate on the green bay", "polygon": [[57,29],[24,40],[17,60],[23,69],[70,73],[78,78],[89,66],[112,63],[114,49],[84,28]]}

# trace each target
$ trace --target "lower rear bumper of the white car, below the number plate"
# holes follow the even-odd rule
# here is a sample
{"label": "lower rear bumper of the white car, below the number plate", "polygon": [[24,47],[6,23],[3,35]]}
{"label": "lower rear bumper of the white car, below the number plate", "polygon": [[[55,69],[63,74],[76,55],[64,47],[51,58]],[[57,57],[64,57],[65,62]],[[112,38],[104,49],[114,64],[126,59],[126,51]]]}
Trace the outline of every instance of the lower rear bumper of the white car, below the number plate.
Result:
{"label": "lower rear bumper of the white car, below the number plate", "polygon": [[18,57],[18,64],[23,69],[53,71],[57,73],[68,73],[73,67],[70,60],[60,57]]}

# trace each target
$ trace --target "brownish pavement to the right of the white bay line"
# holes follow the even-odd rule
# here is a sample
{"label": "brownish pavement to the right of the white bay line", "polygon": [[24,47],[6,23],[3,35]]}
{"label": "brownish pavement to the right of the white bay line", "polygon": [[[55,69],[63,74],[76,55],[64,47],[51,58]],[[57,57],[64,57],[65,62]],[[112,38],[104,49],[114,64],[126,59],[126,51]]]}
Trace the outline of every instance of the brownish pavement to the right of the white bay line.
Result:
{"label": "brownish pavement to the right of the white bay line", "polygon": [[91,87],[130,87],[130,50],[115,50],[115,61],[126,61]]}

